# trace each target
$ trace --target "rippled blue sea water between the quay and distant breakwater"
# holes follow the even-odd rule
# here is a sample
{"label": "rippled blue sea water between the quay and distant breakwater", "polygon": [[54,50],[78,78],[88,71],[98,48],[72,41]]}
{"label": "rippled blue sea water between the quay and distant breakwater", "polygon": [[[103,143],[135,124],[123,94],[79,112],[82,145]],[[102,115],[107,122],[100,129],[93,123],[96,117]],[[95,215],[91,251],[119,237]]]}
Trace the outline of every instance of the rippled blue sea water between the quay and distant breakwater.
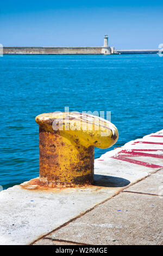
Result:
{"label": "rippled blue sea water between the quay and distant breakwater", "polygon": [[0,58],[3,188],[39,176],[35,116],[64,111],[111,111],[119,131],[110,149],[162,129],[163,57],[8,55]]}

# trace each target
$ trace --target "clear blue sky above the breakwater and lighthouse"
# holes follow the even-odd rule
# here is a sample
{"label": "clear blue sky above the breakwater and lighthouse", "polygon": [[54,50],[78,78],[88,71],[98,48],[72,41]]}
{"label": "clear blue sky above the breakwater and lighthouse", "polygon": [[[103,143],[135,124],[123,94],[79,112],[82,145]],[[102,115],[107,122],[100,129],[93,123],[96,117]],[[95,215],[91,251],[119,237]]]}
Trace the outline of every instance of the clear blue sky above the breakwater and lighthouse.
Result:
{"label": "clear blue sky above the breakwater and lighthouse", "polygon": [[158,48],[163,43],[163,1],[3,1],[4,46]]}

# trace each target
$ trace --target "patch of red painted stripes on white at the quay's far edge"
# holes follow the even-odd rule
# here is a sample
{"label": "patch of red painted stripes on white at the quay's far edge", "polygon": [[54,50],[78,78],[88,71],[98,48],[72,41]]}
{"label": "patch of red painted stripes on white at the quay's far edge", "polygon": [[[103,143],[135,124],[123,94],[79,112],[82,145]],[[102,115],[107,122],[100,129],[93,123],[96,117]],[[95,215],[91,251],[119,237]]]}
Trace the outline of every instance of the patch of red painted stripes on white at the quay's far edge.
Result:
{"label": "patch of red painted stripes on white at the quay's far edge", "polygon": [[152,169],[161,168],[163,167],[163,130],[131,141],[122,148],[102,155],[98,160],[105,160],[106,157]]}

